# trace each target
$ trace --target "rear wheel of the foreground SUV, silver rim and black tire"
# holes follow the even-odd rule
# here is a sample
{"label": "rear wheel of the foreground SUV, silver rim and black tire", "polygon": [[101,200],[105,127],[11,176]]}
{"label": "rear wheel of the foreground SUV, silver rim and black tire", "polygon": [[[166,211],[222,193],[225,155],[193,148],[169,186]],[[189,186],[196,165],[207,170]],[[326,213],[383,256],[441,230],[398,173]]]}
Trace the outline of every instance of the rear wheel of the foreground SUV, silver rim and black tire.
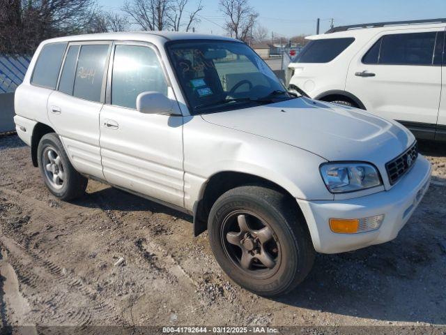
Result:
{"label": "rear wheel of the foreground SUV, silver rim and black tire", "polygon": [[[54,157],[56,157],[55,160]],[[72,167],[63,149],[62,142],[56,133],[48,133],[40,139],[37,148],[37,159],[45,186],[56,198],[67,201],[84,195],[89,179],[79,174]],[[47,169],[47,165],[52,166]],[[58,176],[56,180],[52,178],[54,174]],[[59,175],[61,178],[59,178]]]}

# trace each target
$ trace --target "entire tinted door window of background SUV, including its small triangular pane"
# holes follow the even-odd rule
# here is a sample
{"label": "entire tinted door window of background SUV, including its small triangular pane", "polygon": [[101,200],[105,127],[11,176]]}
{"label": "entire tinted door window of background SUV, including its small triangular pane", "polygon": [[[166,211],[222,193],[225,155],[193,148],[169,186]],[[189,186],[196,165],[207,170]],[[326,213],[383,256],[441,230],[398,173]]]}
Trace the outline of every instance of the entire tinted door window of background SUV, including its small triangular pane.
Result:
{"label": "entire tinted door window of background SUV, including its small triangular pane", "polygon": [[437,35],[440,34],[440,32],[432,31],[383,36],[364,55],[362,62],[364,64],[385,65],[436,64],[434,50],[437,47],[443,50],[443,42],[440,41],[440,36],[437,38]]}

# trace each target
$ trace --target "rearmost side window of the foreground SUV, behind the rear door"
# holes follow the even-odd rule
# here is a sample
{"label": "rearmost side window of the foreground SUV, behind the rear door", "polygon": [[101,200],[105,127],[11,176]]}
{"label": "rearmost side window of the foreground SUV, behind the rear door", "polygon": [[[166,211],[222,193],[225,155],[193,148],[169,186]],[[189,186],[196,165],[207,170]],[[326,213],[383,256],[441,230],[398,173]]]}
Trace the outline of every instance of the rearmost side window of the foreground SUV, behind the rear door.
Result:
{"label": "rearmost side window of the foreground SUV, behind the rear door", "polygon": [[65,52],[67,43],[47,44],[40,52],[31,83],[47,87],[56,88],[57,77],[61,68],[63,52]]}

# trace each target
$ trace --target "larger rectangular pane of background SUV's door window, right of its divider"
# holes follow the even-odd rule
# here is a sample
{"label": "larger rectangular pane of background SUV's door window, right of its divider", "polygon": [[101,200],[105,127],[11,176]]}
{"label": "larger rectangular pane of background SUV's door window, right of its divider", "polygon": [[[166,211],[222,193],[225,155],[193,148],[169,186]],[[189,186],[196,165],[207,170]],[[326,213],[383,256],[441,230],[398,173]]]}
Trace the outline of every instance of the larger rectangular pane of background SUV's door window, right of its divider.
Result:
{"label": "larger rectangular pane of background SUV's door window, right of its divider", "polygon": [[383,36],[379,64],[431,65],[436,32]]}

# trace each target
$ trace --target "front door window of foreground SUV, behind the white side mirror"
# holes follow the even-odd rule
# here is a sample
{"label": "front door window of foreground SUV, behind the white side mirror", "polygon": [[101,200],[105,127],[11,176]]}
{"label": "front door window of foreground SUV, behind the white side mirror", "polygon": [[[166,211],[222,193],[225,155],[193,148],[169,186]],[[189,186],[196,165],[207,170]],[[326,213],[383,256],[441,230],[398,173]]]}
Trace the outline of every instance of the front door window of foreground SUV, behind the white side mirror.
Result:
{"label": "front door window of foreground SUV, behind the white side mirror", "polygon": [[150,47],[116,45],[112,74],[112,105],[135,108],[137,96],[156,91],[167,96],[160,62]]}

